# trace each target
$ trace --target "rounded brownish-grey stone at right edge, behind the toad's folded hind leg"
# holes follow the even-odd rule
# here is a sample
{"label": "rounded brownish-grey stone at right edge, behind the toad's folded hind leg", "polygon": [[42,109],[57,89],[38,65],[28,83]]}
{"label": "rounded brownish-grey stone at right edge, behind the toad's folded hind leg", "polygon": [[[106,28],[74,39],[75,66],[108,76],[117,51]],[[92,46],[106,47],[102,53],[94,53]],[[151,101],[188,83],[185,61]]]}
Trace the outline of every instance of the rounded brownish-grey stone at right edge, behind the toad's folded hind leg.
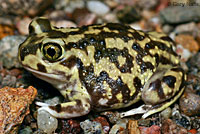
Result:
{"label": "rounded brownish-grey stone at right edge, behind the toad's folded hind leg", "polygon": [[180,110],[187,116],[200,115],[200,96],[186,91],[179,100]]}

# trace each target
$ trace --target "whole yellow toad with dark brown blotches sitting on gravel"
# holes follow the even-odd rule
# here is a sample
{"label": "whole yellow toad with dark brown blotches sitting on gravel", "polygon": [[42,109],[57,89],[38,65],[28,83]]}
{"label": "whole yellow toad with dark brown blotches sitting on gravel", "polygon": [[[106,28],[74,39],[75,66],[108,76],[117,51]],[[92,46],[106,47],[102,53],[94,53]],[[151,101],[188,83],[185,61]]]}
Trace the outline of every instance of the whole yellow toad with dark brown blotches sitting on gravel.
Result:
{"label": "whole yellow toad with dark brown blotches sitting on gravel", "polygon": [[45,18],[34,19],[29,32],[19,61],[69,100],[37,103],[55,117],[123,108],[142,99],[145,105],[120,115],[145,118],[170,106],[184,90],[186,76],[174,43],[162,33],[114,23],[58,29]]}

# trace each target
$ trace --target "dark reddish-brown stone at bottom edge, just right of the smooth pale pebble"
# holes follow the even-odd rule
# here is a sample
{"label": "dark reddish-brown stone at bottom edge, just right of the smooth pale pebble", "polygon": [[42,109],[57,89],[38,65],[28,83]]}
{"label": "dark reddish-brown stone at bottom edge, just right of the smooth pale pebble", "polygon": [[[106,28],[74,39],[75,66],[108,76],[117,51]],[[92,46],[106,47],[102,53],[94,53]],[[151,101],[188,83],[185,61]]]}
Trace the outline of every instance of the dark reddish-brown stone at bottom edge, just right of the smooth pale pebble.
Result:
{"label": "dark reddish-brown stone at bottom edge, just right of the smooth pale pebble", "polygon": [[61,134],[79,134],[81,133],[80,122],[76,120],[61,120]]}

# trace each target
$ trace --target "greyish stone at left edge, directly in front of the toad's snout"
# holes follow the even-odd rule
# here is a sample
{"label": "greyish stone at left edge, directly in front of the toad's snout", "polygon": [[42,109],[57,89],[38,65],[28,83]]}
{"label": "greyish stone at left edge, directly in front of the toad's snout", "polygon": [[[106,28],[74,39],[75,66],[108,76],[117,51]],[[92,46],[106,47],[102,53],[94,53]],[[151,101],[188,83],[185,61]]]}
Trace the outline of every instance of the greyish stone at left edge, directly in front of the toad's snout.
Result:
{"label": "greyish stone at left edge, directly in front of the toad's snout", "polygon": [[21,66],[17,54],[18,47],[25,38],[25,36],[6,36],[0,40],[0,62],[7,69]]}

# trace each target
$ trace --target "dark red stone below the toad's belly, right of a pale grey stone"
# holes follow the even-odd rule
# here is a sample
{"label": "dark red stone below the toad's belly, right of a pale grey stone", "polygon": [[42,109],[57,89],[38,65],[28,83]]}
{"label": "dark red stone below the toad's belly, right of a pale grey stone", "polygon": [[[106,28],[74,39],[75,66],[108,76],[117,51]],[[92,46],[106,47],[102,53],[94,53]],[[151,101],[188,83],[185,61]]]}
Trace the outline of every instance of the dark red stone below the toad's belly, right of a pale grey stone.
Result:
{"label": "dark red stone below the toad's belly, right of a pale grey stone", "polygon": [[99,117],[95,118],[93,121],[101,123],[104,133],[108,134],[108,132],[110,130],[110,125],[105,117],[99,116]]}

